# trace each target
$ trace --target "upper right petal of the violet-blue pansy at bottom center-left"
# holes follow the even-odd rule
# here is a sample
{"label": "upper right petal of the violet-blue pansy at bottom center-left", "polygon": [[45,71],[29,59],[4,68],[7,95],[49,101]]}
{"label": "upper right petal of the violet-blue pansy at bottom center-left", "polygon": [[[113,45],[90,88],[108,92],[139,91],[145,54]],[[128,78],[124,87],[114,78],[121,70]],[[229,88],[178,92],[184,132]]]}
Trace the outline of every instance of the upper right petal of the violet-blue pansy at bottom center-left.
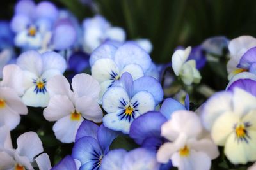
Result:
{"label": "upper right petal of the violet-blue pansy at bottom center-left", "polygon": [[103,124],[100,125],[99,130],[97,132],[99,145],[101,146],[103,152],[108,153],[109,146],[112,141],[120,134],[120,132],[112,131],[108,129]]}

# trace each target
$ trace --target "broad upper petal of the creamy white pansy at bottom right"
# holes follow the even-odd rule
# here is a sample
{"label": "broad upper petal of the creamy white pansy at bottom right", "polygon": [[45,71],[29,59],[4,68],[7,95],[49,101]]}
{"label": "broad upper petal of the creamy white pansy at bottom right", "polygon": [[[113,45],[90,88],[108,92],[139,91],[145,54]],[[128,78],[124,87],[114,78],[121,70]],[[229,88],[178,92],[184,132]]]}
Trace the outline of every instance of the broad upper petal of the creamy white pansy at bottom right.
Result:
{"label": "broad upper petal of the creamy white pansy at bottom right", "polygon": [[188,138],[196,138],[202,131],[202,125],[198,115],[192,111],[178,110],[172,113],[171,119],[161,127],[161,136],[173,141],[180,133],[184,133]]}

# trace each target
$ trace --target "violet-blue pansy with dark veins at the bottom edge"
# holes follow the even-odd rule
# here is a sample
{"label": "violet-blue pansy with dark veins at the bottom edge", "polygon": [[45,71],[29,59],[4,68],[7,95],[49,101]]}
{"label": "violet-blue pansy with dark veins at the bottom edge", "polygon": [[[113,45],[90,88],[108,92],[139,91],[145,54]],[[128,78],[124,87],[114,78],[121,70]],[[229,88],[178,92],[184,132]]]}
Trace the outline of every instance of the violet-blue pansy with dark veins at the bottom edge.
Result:
{"label": "violet-blue pansy with dark veins at the bottom edge", "polygon": [[77,131],[72,158],[81,162],[80,169],[100,169],[101,162],[109,152],[109,146],[118,132],[84,120]]}

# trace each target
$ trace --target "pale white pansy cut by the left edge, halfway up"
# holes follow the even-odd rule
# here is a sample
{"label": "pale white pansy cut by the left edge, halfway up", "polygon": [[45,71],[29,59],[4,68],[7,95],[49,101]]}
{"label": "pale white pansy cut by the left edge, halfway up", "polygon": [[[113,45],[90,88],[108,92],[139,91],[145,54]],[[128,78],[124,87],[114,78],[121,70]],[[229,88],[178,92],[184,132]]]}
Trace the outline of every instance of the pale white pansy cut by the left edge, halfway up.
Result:
{"label": "pale white pansy cut by the left edge, halfway up", "polygon": [[20,123],[20,115],[27,115],[28,108],[19,95],[22,94],[23,74],[14,64],[3,69],[3,81],[0,82],[0,126],[8,125],[10,129]]}

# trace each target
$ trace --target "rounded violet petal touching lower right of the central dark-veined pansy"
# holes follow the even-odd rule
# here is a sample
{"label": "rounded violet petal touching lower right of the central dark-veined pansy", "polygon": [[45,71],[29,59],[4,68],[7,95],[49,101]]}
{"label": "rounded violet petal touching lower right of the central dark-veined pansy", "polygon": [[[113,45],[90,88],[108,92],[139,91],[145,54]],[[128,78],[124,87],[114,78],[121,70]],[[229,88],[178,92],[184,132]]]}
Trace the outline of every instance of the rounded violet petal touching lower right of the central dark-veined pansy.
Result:
{"label": "rounded violet petal touching lower right of the central dark-veined pansy", "polygon": [[130,128],[130,136],[139,145],[148,137],[160,138],[161,125],[166,118],[159,112],[151,111],[136,118]]}

